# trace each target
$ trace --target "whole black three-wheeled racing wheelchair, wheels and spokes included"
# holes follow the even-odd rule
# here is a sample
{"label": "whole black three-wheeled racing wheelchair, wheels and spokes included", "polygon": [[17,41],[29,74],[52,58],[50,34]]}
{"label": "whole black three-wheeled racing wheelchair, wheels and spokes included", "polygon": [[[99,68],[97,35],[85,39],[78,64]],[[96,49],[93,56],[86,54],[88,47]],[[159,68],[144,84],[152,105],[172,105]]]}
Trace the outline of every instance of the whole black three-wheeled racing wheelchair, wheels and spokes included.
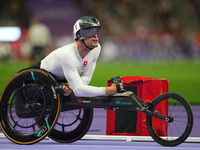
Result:
{"label": "whole black three-wheeled racing wheelchair, wheels and spokes included", "polygon": [[[121,78],[112,78],[118,85]],[[25,69],[16,73],[0,97],[0,127],[5,136],[17,144],[34,144],[46,136],[63,143],[83,137],[93,119],[93,108],[133,110],[146,114],[151,137],[163,146],[184,142],[193,127],[189,103],[176,93],[164,93],[152,102],[144,102],[131,91],[112,96],[63,96],[60,81],[42,69]],[[169,104],[167,112],[157,109]],[[176,110],[176,111],[175,111]],[[159,120],[159,124],[154,124]],[[160,132],[160,126],[165,126]],[[175,132],[175,130],[177,132]]]}

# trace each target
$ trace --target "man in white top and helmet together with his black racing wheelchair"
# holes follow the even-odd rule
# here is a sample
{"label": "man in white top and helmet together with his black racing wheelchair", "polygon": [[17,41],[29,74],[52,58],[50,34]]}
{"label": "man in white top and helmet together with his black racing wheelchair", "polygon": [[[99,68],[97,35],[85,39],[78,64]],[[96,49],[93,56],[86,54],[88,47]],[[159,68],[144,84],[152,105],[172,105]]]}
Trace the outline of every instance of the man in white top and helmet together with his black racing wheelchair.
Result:
{"label": "man in white top and helmet together with his black racing wheelchair", "polygon": [[[193,126],[193,114],[182,96],[164,93],[151,103],[130,91],[115,94],[123,91],[121,78],[112,78],[110,87],[88,86],[101,49],[99,36],[99,21],[94,17],[83,17],[74,25],[75,43],[53,51],[40,63],[12,77],[0,97],[0,128],[8,139],[18,144],[33,144],[49,136],[58,142],[74,142],[87,133],[92,123],[93,108],[147,114],[149,134],[164,146],[176,146],[187,139]],[[65,83],[58,86],[57,81],[62,83],[63,80]],[[59,93],[56,88],[58,92],[61,89]],[[61,92],[64,101],[63,96],[60,98]],[[105,94],[115,95],[101,96]],[[170,104],[169,111],[158,109],[157,106],[163,102]],[[177,108],[178,113],[174,111]],[[62,115],[60,112],[63,112]],[[165,128],[162,134],[159,127]],[[174,129],[177,129],[178,135]]]}

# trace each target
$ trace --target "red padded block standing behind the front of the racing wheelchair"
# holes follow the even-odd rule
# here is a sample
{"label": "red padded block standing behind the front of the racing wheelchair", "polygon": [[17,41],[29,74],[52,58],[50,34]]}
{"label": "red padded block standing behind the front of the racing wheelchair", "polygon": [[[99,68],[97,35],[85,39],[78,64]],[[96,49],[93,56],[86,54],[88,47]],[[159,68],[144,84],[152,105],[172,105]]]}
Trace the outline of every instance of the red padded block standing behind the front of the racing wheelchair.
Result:
{"label": "red padded block standing behind the front of the racing wheelchair", "polygon": [[[168,92],[168,80],[166,79],[156,79],[143,76],[126,76],[122,77],[125,87],[137,87],[137,96],[140,97],[145,102],[152,102],[158,95]],[[112,83],[108,80],[108,86]],[[167,115],[168,113],[168,104],[167,101],[159,105],[160,110],[164,111]],[[107,135],[139,135],[139,136],[149,136],[147,126],[146,126],[146,114],[137,112],[136,123],[136,133],[117,133],[115,132],[115,122],[116,122],[116,112],[114,110],[107,110]],[[157,124],[156,119],[154,124]],[[164,132],[167,128],[167,124],[164,124],[162,127],[159,127],[161,135],[166,135]]]}

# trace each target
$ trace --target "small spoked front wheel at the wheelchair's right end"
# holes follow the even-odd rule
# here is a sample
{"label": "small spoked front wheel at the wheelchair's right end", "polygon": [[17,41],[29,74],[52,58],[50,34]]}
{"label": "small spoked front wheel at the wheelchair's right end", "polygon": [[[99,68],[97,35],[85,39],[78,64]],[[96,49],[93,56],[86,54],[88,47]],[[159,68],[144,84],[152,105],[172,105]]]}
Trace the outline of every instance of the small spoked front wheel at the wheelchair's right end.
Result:
{"label": "small spoked front wheel at the wheelchair's right end", "polygon": [[[168,106],[165,109],[163,106]],[[147,116],[147,128],[152,138],[163,146],[183,143],[193,127],[193,113],[189,103],[176,93],[165,93],[152,102],[151,111],[172,117],[171,122]]]}

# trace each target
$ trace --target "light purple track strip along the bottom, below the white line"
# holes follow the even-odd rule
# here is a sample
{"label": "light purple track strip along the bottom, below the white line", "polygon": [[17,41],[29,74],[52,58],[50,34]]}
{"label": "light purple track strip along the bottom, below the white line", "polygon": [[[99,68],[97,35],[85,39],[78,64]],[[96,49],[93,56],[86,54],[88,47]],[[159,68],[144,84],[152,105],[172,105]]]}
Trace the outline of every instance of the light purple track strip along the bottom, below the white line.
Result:
{"label": "light purple track strip along the bottom, below the white line", "polygon": [[183,143],[176,147],[163,147],[155,142],[126,142],[79,140],[74,143],[57,143],[43,140],[34,145],[17,145],[1,139],[0,149],[4,150],[200,150],[199,143]]}

